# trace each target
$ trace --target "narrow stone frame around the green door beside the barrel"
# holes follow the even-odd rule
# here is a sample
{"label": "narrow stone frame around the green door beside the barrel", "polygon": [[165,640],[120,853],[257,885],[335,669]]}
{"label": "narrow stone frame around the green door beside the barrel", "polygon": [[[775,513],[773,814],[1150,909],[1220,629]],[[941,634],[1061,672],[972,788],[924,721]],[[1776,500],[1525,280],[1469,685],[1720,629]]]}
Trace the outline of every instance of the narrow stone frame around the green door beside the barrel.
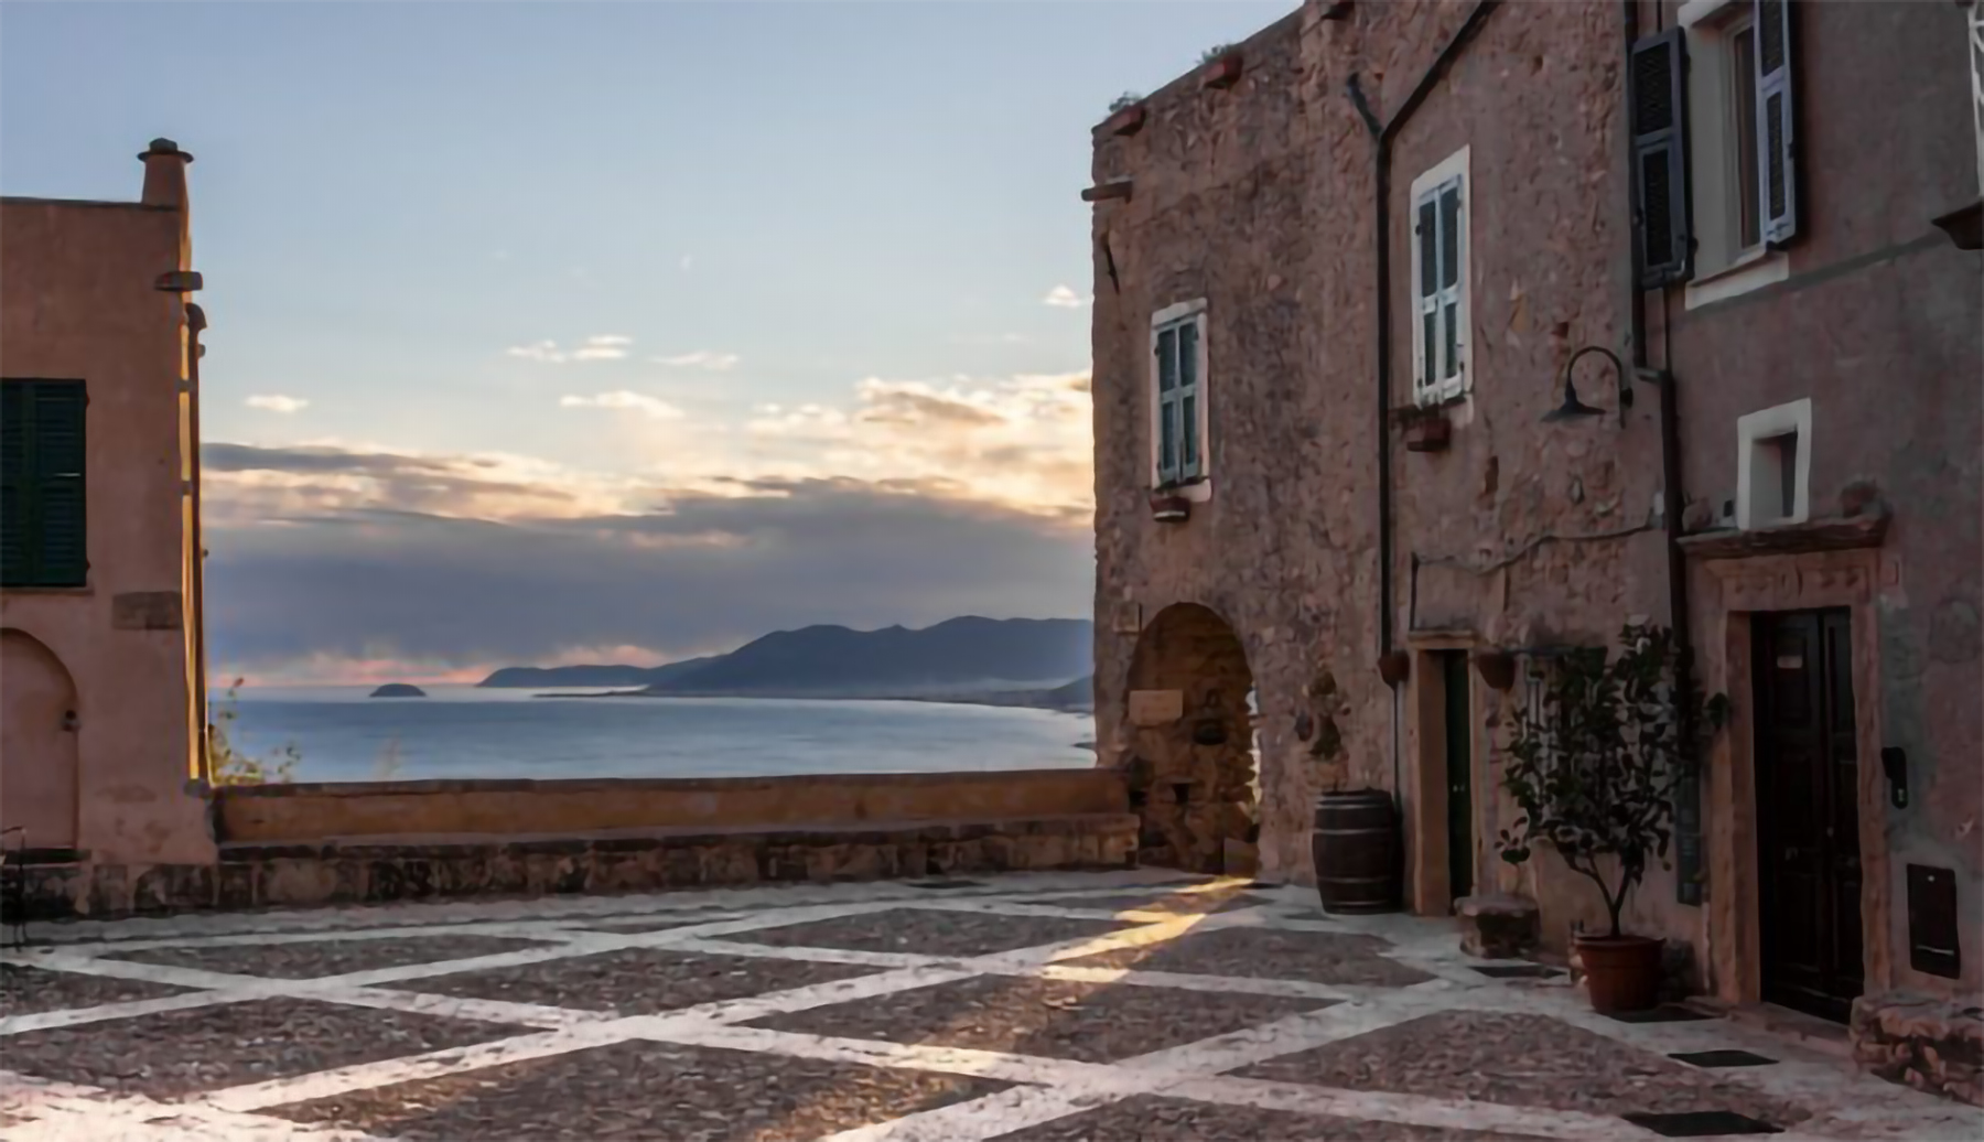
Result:
{"label": "narrow stone frame around the green door beside the barrel", "polygon": [[[1446,870],[1446,678],[1438,652],[1470,652],[1480,646],[1472,630],[1419,630],[1407,634],[1413,666],[1407,674],[1407,747],[1405,767],[1405,884],[1411,908],[1419,916],[1450,916],[1454,910],[1452,878]],[[1468,662],[1468,726],[1482,726],[1482,686]],[[1482,843],[1492,837],[1484,821],[1486,749],[1476,734],[1468,749],[1468,823],[1474,837],[1474,890],[1494,888],[1484,878]]]}

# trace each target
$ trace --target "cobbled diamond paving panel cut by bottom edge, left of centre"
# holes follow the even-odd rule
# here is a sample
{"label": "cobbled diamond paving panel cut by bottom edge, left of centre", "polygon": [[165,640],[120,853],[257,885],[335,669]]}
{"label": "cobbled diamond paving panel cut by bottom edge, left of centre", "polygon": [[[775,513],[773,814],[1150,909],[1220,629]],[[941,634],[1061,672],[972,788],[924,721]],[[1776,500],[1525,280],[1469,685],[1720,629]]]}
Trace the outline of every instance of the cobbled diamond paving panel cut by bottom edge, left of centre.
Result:
{"label": "cobbled diamond paving panel cut by bottom edge, left of centre", "polygon": [[1004,1088],[929,1071],[615,1043],[264,1112],[413,1142],[809,1142]]}

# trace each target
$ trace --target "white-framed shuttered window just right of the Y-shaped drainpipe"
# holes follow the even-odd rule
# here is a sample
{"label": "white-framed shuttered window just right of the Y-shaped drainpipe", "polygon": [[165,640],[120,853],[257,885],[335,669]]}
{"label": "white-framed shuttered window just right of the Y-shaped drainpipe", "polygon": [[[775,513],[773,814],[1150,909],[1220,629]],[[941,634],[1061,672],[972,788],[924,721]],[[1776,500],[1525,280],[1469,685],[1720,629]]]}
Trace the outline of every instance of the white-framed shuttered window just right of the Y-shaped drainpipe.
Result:
{"label": "white-framed shuttered window just right of the Y-shaped drainpipe", "polygon": [[1413,180],[1413,400],[1468,389],[1468,151]]}

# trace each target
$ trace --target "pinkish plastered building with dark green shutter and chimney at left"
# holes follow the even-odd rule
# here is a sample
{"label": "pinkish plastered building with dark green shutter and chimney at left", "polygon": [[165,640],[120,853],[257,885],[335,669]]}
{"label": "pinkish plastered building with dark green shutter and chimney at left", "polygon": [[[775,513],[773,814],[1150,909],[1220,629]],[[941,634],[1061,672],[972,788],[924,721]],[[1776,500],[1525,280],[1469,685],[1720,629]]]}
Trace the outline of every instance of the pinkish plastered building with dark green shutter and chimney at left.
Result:
{"label": "pinkish plastered building with dark green shutter and chimney at left", "polygon": [[77,882],[214,858],[192,157],[139,159],[137,202],[0,200],[0,823]]}

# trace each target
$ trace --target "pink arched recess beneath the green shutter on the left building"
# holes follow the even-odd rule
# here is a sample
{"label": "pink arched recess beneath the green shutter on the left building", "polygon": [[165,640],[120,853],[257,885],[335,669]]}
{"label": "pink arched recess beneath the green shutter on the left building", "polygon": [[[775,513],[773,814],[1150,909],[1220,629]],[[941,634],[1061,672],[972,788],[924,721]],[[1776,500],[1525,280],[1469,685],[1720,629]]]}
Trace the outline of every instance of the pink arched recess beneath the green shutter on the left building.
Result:
{"label": "pink arched recess beneath the green shutter on the left building", "polygon": [[0,827],[24,829],[26,849],[75,849],[73,726],[69,668],[40,638],[0,630]]}

